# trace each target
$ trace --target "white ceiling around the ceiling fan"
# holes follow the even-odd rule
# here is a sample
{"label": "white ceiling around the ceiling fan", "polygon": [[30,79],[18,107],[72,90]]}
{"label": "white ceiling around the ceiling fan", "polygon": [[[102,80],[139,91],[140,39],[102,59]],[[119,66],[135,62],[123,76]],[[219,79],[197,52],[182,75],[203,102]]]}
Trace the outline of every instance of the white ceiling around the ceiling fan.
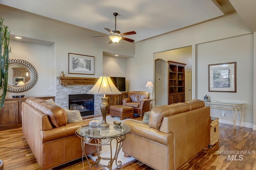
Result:
{"label": "white ceiling around the ceiling fan", "polygon": [[106,35],[104,27],[115,29],[113,13],[117,12],[116,29],[121,33],[136,31],[125,36],[135,42],[233,12],[232,5],[256,31],[255,0],[0,0],[0,4]]}

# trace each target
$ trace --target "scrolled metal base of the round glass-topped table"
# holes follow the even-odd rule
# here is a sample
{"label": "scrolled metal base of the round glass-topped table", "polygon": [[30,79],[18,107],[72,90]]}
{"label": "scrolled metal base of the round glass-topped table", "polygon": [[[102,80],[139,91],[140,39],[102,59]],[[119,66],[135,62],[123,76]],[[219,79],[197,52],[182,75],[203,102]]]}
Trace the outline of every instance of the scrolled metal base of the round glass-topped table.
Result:
{"label": "scrolled metal base of the round glass-topped table", "polygon": [[[112,170],[112,165],[114,162],[115,162],[117,168],[119,169],[122,165],[122,162],[118,161],[117,158],[118,158],[118,154],[122,148],[125,138],[126,138],[126,135],[121,135],[119,137],[103,138],[103,139],[82,137],[81,138],[82,150],[83,150],[86,160],[89,164],[90,170],[92,169],[93,166],[107,167],[109,170]],[[94,140],[94,143],[90,143],[92,140]],[[113,140],[116,141],[116,149],[114,150],[114,152],[112,150]],[[89,161],[88,157],[86,156],[86,152],[85,152],[86,145],[85,144],[94,145],[97,148],[98,158],[96,159],[94,164],[90,164],[90,161]],[[108,145],[110,147],[110,157],[102,158],[100,156],[100,146],[106,146],[106,145]],[[108,165],[100,164],[100,160],[109,160]]]}

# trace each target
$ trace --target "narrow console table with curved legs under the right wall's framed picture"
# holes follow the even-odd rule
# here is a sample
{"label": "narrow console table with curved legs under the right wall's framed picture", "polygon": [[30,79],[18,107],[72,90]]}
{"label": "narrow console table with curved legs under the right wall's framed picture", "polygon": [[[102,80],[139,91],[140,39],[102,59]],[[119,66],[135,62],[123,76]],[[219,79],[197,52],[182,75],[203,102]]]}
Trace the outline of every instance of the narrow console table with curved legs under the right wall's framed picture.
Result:
{"label": "narrow console table with curved legs under the right wall's framed picture", "polygon": [[[226,110],[232,110],[233,112],[233,122],[234,122],[234,128],[236,128],[236,118],[237,118],[237,111],[239,111],[240,114],[240,124],[239,126],[241,127],[241,122],[242,118],[244,115],[244,103],[236,103],[236,102],[205,102],[206,106],[210,106],[211,108],[216,108],[216,109],[226,109]],[[212,105],[221,105],[222,107],[217,107],[217,106],[212,106]],[[224,106],[231,106],[231,107],[224,107]]]}

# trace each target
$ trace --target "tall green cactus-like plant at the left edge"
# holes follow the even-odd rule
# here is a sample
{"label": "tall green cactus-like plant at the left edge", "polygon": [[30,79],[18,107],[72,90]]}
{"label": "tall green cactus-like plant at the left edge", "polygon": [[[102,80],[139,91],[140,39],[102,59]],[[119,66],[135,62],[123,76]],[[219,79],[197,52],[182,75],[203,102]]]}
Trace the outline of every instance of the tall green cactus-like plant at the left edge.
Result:
{"label": "tall green cactus-like plant at the left edge", "polygon": [[4,99],[7,91],[8,61],[9,53],[11,52],[11,48],[9,49],[10,30],[8,30],[8,26],[5,26],[3,22],[4,19],[0,18],[0,90],[2,92],[2,94],[0,94],[0,109],[4,106]]}

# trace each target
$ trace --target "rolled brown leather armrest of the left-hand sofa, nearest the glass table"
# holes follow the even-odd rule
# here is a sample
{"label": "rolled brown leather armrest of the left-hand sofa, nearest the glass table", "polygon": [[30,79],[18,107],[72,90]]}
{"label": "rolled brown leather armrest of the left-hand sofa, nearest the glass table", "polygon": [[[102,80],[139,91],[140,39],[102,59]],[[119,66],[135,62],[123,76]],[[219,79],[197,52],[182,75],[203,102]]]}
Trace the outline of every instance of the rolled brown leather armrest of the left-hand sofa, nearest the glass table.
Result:
{"label": "rolled brown leather armrest of the left-hand sofa, nearest the glass table", "polygon": [[79,121],[74,123],[68,123],[65,126],[53,128],[51,130],[42,131],[40,130],[40,138],[42,143],[62,139],[76,135],[76,130],[82,125],[88,125],[89,121]]}

